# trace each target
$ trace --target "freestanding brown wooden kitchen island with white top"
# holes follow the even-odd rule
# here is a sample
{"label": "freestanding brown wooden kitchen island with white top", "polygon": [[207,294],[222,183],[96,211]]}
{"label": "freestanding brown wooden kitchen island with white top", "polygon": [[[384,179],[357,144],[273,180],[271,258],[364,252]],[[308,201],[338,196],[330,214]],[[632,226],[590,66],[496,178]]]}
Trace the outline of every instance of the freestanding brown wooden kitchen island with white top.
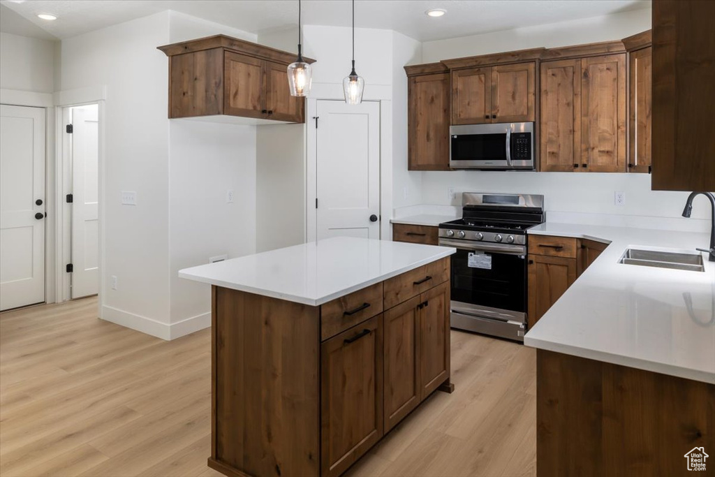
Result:
{"label": "freestanding brown wooden kitchen island with white top", "polygon": [[209,466],[337,476],[451,392],[454,252],[334,237],[179,271],[212,285]]}

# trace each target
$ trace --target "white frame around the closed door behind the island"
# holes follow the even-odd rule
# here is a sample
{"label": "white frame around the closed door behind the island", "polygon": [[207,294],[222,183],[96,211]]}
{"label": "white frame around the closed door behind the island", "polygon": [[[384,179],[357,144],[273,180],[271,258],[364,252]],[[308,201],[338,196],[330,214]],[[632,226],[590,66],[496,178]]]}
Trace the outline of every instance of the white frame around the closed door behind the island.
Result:
{"label": "white frame around the closed door behind the island", "polygon": [[[382,92],[382,91],[380,91]],[[327,96],[327,94],[325,95]],[[380,97],[382,96],[382,97]],[[317,237],[317,132],[315,116],[317,102],[323,100],[344,101],[342,97],[308,98],[305,108],[305,241],[315,242]],[[390,217],[393,216],[393,109],[388,94],[366,97],[364,101],[380,102],[380,239],[392,240]],[[320,119],[318,119],[320,124]],[[320,127],[320,125],[318,126]]]}

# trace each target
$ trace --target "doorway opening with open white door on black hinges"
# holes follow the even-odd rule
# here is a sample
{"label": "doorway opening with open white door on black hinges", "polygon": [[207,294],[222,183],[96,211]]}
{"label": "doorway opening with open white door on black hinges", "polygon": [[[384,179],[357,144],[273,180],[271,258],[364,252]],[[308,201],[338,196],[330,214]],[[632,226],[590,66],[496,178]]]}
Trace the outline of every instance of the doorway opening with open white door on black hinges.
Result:
{"label": "doorway opening with open white door on black hinges", "polygon": [[[62,110],[62,300],[99,293],[99,104]],[[58,284],[59,285],[59,284]]]}

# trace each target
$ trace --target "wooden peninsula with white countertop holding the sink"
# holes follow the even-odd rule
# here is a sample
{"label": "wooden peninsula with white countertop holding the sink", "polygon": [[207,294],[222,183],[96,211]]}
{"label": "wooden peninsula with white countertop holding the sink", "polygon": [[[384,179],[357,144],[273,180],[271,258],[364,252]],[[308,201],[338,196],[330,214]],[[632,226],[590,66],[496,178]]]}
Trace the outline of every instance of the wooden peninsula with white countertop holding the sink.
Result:
{"label": "wooden peninsula with white countertop holding the sink", "polygon": [[626,249],[698,254],[708,235],[548,222],[528,233],[608,244],[524,338],[537,348],[538,476],[687,475],[686,453],[715,449],[715,263],[620,261]]}

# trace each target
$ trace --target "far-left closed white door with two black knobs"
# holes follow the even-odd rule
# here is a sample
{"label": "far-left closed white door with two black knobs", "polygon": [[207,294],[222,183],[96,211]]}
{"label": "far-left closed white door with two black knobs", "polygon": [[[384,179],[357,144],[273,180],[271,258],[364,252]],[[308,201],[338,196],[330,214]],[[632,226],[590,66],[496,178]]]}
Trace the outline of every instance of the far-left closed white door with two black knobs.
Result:
{"label": "far-left closed white door with two black knobs", "polygon": [[0,106],[0,310],[45,300],[45,110]]}

